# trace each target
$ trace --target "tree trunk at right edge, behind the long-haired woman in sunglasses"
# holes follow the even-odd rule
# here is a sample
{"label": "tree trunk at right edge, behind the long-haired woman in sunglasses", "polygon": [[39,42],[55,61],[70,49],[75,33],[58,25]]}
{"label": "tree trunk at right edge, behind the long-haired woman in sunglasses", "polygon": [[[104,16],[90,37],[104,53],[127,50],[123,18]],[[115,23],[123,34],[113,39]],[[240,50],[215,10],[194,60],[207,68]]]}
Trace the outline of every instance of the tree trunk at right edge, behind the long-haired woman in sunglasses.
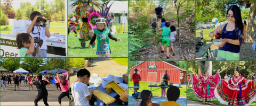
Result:
{"label": "tree trunk at right edge, behind the long-haired woman in sunglasses", "polygon": [[[244,42],[253,42],[253,39],[252,39],[252,25],[254,24],[253,23],[253,16],[254,16],[254,13],[255,13],[255,10],[254,10],[255,4],[256,4],[255,2],[251,2],[249,20],[248,20],[247,31],[246,31],[247,33],[246,33],[246,37],[245,37]],[[254,30],[254,33],[255,33],[255,30]]]}

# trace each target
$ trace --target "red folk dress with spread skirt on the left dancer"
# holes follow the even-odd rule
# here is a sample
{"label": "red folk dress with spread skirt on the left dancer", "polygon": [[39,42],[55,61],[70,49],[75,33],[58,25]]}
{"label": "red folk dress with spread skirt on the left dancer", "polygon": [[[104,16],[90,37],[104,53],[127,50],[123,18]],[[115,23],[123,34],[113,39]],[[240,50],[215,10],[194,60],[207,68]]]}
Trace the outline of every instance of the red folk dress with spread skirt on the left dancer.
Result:
{"label": "red folk dress with spread skirt on the left dancer", "polygon": [[200,75],[199,79],[195,74],[191,77],[193,83],[193,91],[198,99],[201,101],[212,101],[215,100],[214,89],[220,82],[220,74],[216,73],[215,77],[213,76],[203,76]]}

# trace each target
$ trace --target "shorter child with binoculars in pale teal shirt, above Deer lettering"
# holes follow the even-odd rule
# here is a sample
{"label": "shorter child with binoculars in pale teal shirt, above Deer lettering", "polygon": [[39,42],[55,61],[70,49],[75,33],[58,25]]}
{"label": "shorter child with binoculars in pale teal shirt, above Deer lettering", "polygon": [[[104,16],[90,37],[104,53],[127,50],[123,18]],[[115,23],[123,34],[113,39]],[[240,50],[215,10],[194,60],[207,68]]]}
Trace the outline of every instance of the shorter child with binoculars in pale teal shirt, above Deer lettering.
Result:
{"label": "shorter child with binoculars in pale teal shirt, above Deer lettering", "polygon": [[28,33],[20,33],[17,35],[16,42],[18,49],[20,49],[20,57],[32,57],[32,54],[38,54],[39,43],[37,43],[36,50],[34,47],[35,38],[31,38]]}

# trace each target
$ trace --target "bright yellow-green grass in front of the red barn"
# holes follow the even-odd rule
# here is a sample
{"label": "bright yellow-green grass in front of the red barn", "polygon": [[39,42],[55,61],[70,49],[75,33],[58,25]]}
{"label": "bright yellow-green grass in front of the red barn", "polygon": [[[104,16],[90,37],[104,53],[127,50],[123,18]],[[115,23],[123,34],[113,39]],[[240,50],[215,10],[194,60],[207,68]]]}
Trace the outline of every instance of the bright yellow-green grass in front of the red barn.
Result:
{"label": "bright yellow-green grass in front of the red barn", "polygon": [[[149,90],[150,91],[150,87],[148,87],[148,85],[150,85],[149,82],[140,82],[140,89],[138,90],[138,92],[141,92],[142,90]],[[157,85],[160,85],[160,83],[157,83]],[[133,86],[133,82],[129,81],[129,86]],[[182,88],[180,88],[180,97],[186,97],[187,94],[184,91],[186,90],[186,86],[181,85]],[[160,87],[152,87],[152,90],[158,89]],[[129,94],[133,94],[133,89],[129,89]],[[167,91],[167,90],[166,90]],[[161,96],[161,89],[158,89],[156,91],[152,92],[153,95],[160,95]]]}

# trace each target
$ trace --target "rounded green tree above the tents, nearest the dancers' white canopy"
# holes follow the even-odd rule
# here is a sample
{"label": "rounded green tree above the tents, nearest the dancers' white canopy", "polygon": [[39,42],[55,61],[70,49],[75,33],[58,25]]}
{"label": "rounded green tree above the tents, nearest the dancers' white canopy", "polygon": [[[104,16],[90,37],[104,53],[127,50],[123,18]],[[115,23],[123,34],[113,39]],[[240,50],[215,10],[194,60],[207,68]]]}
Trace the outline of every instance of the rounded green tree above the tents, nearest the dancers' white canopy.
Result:
{"label": "rounded green tree above the tents, nearest the dancers' white canopy", "polygon": [[26,65],[26,68],[31,70],[32,76],[44,63],[43,58],[23,58],[22,61],[24,61],[23,65]]}

